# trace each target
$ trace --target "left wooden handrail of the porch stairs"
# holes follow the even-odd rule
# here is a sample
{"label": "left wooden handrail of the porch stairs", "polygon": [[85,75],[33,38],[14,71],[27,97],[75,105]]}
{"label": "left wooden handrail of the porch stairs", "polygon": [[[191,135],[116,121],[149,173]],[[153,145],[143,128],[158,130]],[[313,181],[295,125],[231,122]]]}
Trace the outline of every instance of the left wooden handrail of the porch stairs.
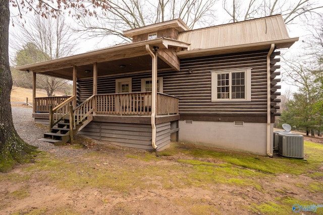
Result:
{"label": "left wooden handrail of the porch stairs", "polygon": [[[76,96],[71,96],[55,108],[52,108],[51,105],[49,106],[49,131],[69,114],[69,106],[73,104],[74,99],[76,99]],[[64,111],[64,109],[67,111]],[[56,117],[54,117],[54,113],[57,113]],[[56,121],[54,121],[54,118]]]}

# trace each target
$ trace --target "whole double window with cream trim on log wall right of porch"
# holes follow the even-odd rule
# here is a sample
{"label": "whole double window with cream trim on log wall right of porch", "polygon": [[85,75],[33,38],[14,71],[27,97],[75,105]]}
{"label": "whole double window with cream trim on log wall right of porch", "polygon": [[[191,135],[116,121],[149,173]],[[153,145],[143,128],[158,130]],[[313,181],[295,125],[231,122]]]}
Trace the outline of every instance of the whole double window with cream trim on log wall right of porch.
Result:
{"label": "whole double window with cream trim on log wall right of porch", "polygon": [[251,68],[211,71],[211,100],[251,101]]}

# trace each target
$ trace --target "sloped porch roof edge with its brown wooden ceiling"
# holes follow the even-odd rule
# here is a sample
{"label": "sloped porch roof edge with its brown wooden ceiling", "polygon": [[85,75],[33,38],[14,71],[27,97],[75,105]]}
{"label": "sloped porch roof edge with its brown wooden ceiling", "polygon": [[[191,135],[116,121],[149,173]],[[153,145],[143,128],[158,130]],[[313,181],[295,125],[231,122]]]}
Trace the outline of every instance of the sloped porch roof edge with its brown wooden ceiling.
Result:
{"label": "sloped porch roof edge with its brown wooden ceiling", "polygon": [[[157,38],[19,66],[17,69],[69,80],[73,79],[73,66],[77,68],[78,79],[93,77],[93,63],[95,62],[97,63],[98,76],[147,71],[151,70],[151,56],[145,48],[146,45],[149,45],[151,49],[154,46],[159,47],[159,50],[168,49],[169,47],[187,49],[189,46],[185,42]],[[171,68],[168,64],[169,62],[167,63],[165,60],[158,58],[158,69]],[[125,67],[120,65],[125,65]],[[85,70],[90,70],[90,73],[85,73]]]}

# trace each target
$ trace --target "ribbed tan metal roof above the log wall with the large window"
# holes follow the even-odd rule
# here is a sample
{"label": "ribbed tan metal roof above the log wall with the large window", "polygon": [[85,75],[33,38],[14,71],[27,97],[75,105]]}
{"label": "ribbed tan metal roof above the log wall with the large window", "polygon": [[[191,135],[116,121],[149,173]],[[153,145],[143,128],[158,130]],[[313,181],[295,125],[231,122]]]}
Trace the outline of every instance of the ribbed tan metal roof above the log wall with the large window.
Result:
{"label": "ribbed tan metal roof above the log wall with the large window", "polygon": [[[178,40],[191,44],[187,51],[290,39],[281,15],[186,31],[178,36]],[[280,48],[290,47],[294,42]]]}

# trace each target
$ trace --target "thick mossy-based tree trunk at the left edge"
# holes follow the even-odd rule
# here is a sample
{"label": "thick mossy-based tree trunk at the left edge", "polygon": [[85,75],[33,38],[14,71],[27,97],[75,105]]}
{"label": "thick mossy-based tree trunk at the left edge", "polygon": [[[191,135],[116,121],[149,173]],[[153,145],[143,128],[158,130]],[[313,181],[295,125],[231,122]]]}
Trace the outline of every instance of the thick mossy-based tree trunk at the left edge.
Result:
{"label": "thick mossy-based tree trunk at the left edge", "polygon": [[9,0],[0,0],[0,171],[29,160],[34,147],[22,140],[13,123],[10,105],[12,77],[9,65]]}

